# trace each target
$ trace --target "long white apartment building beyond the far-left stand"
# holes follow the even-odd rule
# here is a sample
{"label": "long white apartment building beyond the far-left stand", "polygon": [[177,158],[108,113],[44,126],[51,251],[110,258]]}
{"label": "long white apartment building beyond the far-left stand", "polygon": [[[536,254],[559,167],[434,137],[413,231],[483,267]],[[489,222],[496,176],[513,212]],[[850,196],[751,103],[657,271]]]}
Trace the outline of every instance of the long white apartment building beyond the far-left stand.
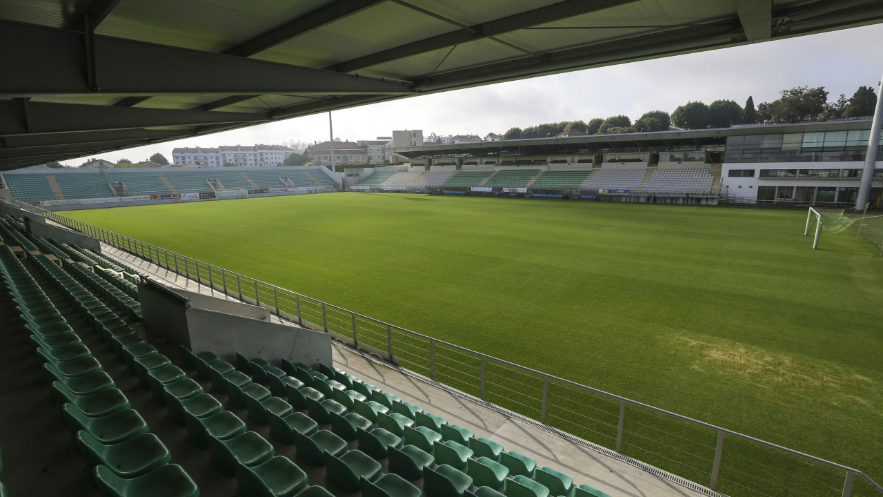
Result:
{"label": "long white apartment building beyond the far-left stand", "polygon": [[173,164],[197,164],[203,167],[279,165],[294,150],[279,145],[178,147],[171,152]]}

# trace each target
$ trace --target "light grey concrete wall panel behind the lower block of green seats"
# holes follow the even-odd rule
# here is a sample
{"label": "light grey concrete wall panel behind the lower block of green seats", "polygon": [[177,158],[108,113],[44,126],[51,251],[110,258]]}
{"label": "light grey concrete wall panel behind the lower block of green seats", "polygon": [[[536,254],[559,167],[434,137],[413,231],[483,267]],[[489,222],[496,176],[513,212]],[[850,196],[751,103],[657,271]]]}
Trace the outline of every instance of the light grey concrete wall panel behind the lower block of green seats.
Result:
{"label": "light grey concrete wall panel behind the lower block of green seats", "polygon": [[332,364],[331,337],[296,326],[277,325],[216,310],[187,310],[191,348],[210,351],[225,361],[235,361],[234,353],[262,357],[278,365],[280,358],[311,366]]}

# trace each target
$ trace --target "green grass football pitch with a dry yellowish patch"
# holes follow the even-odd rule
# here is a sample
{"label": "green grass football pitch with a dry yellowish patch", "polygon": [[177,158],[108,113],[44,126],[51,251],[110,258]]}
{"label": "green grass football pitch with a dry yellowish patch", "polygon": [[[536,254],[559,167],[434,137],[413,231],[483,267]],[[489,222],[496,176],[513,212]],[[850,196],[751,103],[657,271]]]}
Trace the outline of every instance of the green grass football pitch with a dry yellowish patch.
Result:
{"label": "green grass football pitch with a dry yellowish patch", "polygon": [[68,214],[883,480],[883,258],[852,230],[812,250],[804,210],[336,194]]}

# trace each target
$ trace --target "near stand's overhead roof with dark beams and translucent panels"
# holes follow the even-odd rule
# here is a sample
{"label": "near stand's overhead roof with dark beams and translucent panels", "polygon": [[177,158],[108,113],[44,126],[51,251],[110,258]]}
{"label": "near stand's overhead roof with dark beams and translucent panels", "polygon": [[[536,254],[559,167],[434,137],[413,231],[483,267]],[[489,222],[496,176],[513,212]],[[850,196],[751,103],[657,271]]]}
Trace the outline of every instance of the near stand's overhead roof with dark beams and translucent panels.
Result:
{"label": "near stand's overhead roof with dark beams and translucent panels", "polygon": [[0,170],[881,19],[879,0],[0,0]]}

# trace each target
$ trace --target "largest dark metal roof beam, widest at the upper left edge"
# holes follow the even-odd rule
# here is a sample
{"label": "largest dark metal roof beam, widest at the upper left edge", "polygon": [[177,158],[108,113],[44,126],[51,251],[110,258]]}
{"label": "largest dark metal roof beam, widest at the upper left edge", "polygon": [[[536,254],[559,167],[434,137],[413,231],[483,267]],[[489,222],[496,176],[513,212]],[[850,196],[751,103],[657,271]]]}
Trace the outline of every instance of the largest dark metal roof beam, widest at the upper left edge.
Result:
{"label": "largest dark metal roof beam, widest at the upper left edge", "polygon": [[0,95],[407,95],[407,83],[94,36],[94,86],[82,34],[0,22]]}

